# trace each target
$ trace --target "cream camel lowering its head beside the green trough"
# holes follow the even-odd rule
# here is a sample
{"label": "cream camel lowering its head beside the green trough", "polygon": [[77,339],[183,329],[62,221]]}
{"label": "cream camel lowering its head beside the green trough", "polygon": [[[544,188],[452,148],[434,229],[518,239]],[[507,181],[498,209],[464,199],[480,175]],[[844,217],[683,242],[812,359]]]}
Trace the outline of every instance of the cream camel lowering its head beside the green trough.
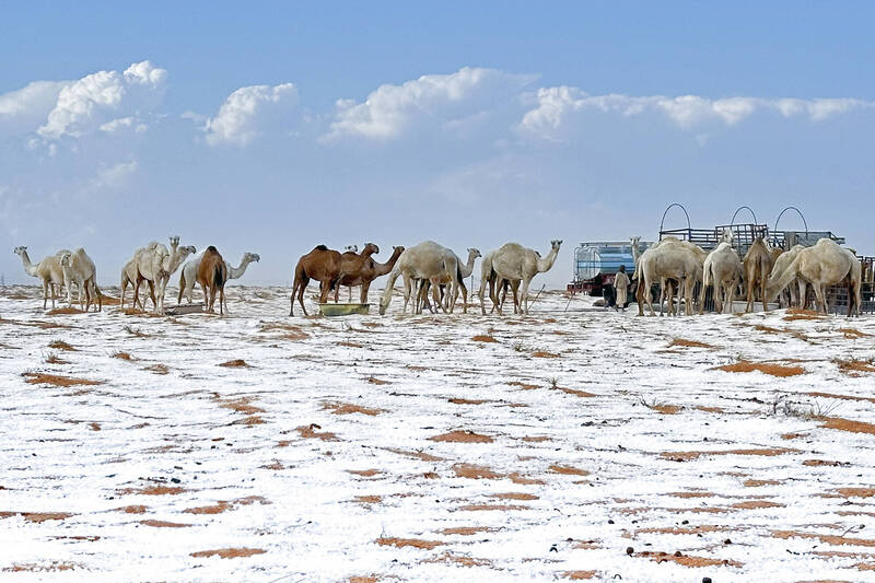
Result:
{"label": "cream camel lowering its head beside the green trough", "polygon": [[[439,245],[433,241],[423,241],[419,245],[407,248],[398,257],[398,261],[389,272],[388,282],[383,290],[383,296],[380,299],[380,315],[386,313],[389,303],[392,302],[392,291],[395,288],[395,281],[404,277],[404,308],[401,313],[407,312],[407,304],[410,301],[411,294],[416,291],[415,281],[432,278],[442,279],[447,278],[450,282],[450,293],[453,299],[450,303],[450,312],[455,308],[455,293],[458,288],[458,258],[451,249]],[[416,312],[416,296],[413,298],[413,312]]]}

